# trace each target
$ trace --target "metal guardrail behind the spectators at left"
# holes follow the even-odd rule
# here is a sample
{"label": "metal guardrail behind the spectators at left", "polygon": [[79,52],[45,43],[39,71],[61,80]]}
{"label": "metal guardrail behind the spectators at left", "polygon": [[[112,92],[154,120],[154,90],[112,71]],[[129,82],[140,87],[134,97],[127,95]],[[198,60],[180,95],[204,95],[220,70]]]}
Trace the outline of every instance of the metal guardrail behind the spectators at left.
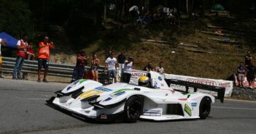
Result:
{"label": "metal guardrail behind the spectators at left", "polygon": [[[10,57],[2,57],[2,70],[3,72],[10,72],[12,73],[13,68],[15,66],[16,58]],[[74,64],[56,64],[56,63],[49,63],[49,70],[47,75],[59,76],[59,77],[66,77],[71,78],[72,72],[74,70]],[[25,60],[22,68],[22,72],[27,73],[34,73],[37,74],[38,62],[35,60]],[[90,70],[90,67],[85,66],[85,69]],[[44,69],[42,69],[44,70]],[[43,73],[44,71],[42,71]],[[106,80],[106,75],[104,75],[104,66],[100,66],[98,70],[99,79]]]}

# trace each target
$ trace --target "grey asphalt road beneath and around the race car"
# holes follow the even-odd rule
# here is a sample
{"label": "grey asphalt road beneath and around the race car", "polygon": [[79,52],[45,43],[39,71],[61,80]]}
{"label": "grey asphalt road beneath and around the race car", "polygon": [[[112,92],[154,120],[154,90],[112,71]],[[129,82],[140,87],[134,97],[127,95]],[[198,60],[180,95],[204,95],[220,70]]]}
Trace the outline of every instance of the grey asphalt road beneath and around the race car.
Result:
{"label": "grey asphalt road beneath and around the race car", "polygon": [[97,123],[83,122],[45,105],[65,83],[0,79],[0,133],[225,133],[255,134],[256,103],[225,100],[212,105],[206,120],[168,122]]}

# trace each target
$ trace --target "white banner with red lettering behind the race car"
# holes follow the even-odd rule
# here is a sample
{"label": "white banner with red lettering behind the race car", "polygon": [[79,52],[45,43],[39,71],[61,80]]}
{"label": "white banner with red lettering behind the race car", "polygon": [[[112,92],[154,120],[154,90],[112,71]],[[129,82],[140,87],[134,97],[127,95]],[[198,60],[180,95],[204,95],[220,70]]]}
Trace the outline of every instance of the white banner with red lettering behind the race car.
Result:
{"label": "white banner with red lettering behind the race car", "polygon": [[[120,71],[117,71],[119,73],[118,76],[120,76]],[[141,71],[141,70],[133,70],[131,73],[131,80],[130,84],[133,85],[138,85],[139,78],[143,75],[146,75],[146,71]],[[165,79],[176,79],[176,80],[184,80],[184,81],[189,81],[193,83],[200,83],[204,85],[214,85],[214,86],[219,86],[225,88],[225,96],[231,96],[231,93],[233,91],[233,82],[228,81],[228,80],[215,80],[215,79],[209,79],[209,78],[195,78],[195,77],[190,77],[190,76],[184,76],[184,75],[171,75],[171,74],[163,74],[163,78]],[[119,79],[120,80],[120,79]],[[185,86],[182,85],[170,85],[171,88],[181,90],[181,91],[186,91]],[[189,88],[190,92],[193,92],[193,88]],[[217,96],[217,92],[214,91],[206,91],[206,90],[201,90],[198,89],[198,92],[201,93],[207,93],[212,96]]]}

